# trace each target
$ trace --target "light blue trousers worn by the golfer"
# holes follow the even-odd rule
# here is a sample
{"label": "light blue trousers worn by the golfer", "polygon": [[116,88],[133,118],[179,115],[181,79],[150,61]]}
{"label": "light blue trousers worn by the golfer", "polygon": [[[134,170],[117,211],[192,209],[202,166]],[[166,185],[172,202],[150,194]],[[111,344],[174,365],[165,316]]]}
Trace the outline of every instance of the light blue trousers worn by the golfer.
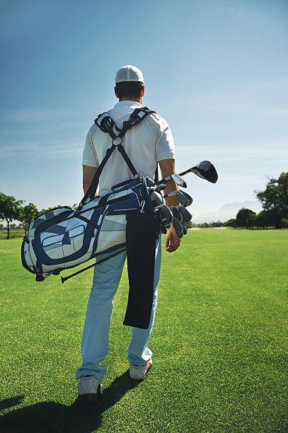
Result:
{"label": "light blue trousers worn by the golfer", "polygon": [[[81,342],[83,364],[76,370],[76,379],[83,376],[95,376],[98,381],[101,381],[105,375],[106,367],[100,365],[100,362],[103,362],[108,353],[113,298],[120,283],[125,259],[126,253],[120,253],[94,269],[93,286],[88,299]],[[156,240],[154,299],[149,328],[132,328],[131,341],[127,348],[127,359],[134,365],[146,366],[148,361],[151,362],[152,352],[147,347],[147,344],[154,325],[160,267],[161,236]],[[141,278],[141,275],[139,275],[139,278]]]}

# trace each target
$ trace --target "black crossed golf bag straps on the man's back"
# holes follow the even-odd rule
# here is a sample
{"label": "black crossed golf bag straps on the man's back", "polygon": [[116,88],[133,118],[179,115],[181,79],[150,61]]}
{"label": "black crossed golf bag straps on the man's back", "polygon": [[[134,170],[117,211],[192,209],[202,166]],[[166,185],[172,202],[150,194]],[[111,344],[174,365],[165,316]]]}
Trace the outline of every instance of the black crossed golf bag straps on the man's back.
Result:
{"label": "black crossed golf bag straps on the man's back", "polygon": [[147,107],[136,108],[130,115],[129,119],[123,123],[123,127],[122,129],[120,129],[120,133],[118,135],[115,134],[113,128],[117,129],[117,131],[119,131],[119,128],[117,128],[117,126],[115,125],[115,122],[112,119],[112,117],[110,117],[109,115],[105,116],[105,114],[107,114],[106,112],[101,113],[100,115],[98,115],[96,120],[94,120],[94,122],[101,129],[101,131],[110,134],[110,137],[112,137],[112,146],[109,149],[107,149],[106,155],[103,158],[103,161],[100,163],[100,166],[98,167],[94,175],[91,185],[88,187],[88,190],[84,195],[83,199],[81,200],[79,207],[81,207],[86,202],[88,197],[90,197],[91,199],[95,197],[100,175],[103,171],[105,163],[108,161],[110,155],[115,150],[115,147],[117,147],[118,151],[120,151],[120,154],[122,155],[125,162],[127,163],[127,166],[129,167],[129,170],[131,171],[134,178],[135,179],[139,178],[139,173],[137,173],[136,168],[133,166],[132,161],[130,160],[124,147],[122,146],[122,138],[125,136],[125,133],[128,129],[131,129],[135,125],[138,125],[146,117],[146,115],[149,115],[151,112],[155,112],[155,111],[149,110],[149,108]]}

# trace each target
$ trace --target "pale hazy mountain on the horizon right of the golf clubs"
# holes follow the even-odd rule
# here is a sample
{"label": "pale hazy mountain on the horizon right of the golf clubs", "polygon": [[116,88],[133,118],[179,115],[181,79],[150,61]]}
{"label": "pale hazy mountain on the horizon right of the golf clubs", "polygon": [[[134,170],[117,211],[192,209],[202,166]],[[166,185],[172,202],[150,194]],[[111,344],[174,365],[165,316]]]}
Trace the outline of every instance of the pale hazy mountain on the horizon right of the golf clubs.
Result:
{"label": "pale hazy mountain on the horizon right of the golf clubs", "polygon": [[203,214],[199,217],[196,216],[192,219],[195,223],[202,222],[212,222],[212,221],[227,221],[231,218],[236,218],[236,214],[238,210],[242,207],[246,207],[247,209],[251,209],[254,212],[258,213],[262,209],[260,202],[252,202],[250,200],[246,200],[246,202],[242,203],[226,203],[224,204],[218,212],[211,212],[209,214]]}

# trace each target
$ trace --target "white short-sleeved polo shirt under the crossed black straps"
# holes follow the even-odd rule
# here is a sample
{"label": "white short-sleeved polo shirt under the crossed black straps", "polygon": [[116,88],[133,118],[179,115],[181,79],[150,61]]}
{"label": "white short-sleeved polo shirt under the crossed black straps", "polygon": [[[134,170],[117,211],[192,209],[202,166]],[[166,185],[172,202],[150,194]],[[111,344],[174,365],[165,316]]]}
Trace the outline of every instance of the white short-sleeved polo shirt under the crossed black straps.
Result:
{"label": "white short-sleeved polo shirt under the crossed black straps", "polygon": [[[118,128],[122,128],[123,122],[129,119],[134,109],[141,106],[131,100],[122,100],[108,111],[108,115],[113,118]],[[110,135],[101,131],[93,123],[86,137],[83,166],[98,167],[111,145]],[[147,115],[139,125],[129,129],[123,138],[122,145],[141,177],[153,178],[157,161],[167,158],[175,159],[171,129],[163,117],[154,113]],[[98,194],[104,195],[111,192],[110,188],[113,185],[129,178],[133,178],[132,173],[120,152],[115,149],[100,175]]]}

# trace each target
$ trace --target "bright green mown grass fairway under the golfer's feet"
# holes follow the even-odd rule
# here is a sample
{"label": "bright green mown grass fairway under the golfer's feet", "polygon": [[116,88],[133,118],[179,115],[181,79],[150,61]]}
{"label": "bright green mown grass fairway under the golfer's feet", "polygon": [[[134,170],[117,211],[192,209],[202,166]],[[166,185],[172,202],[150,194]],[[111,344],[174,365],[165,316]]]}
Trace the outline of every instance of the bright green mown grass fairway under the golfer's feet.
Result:
{"label": "bright green mown grass fairway under the golfer's feet", "polygon": [[163,251],[154,366],[137,386],[125,271],[103,400],[83,410],[69,406],[92,271],[36,283],[20,247],[0,241],[1,433],[288,432],[288,230],[190,230]]}

